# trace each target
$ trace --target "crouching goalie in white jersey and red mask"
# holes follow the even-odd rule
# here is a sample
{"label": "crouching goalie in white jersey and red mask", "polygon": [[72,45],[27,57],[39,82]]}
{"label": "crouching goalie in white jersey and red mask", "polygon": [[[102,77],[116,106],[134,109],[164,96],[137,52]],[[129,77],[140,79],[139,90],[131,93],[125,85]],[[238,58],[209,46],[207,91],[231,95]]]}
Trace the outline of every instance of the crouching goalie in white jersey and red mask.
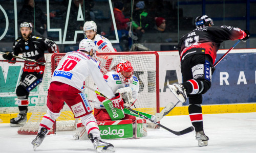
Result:
{"label": "crouching goalie in white jersey and red mask", "polygon": [[[110,71],[103,76],[106,83],[108,83],[113,92],[117,92],[118,90],[123,89],[125,87],[129,87],[132,89],[132,103],[124,104],[126,106],[131,106],[134,104],[134,102],[137,100],[139,92],[139,81],[133,75],[133,72],[134,70],[131,62],[127,60],[122,60],[117,66],[116,71]],[[102,101],[105,100],[105,98],[100,95],[96,96],[96,103],[94,104],[94,117],[96,118],[96,120],[100,121],[111,120],[109,113],[102,104]],[[123,100],[125,101],[125,99]],[[131,119],[134,123],[136,117],[125,114],[124,118],[122,119]]]}

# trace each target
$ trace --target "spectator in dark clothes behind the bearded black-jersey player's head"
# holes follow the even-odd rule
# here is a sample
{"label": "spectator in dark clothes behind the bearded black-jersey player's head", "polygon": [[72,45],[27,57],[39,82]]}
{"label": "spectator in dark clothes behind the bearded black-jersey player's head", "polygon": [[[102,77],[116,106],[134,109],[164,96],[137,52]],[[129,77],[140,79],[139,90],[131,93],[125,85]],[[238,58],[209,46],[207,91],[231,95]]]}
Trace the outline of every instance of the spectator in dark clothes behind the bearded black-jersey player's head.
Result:
{"label": "spectator in dark clothes behind the bearded black-jersey player's head", "polygon": [[[34,12],[34,10],[36,11]],[[46,13],[42,12],[39,6],[34,5],[34,0],[24,1],[22,9],[18,13],[18,24],[22,23],[23,21],[32,23],[32,26],[35,27],[36,35],[41,35],[44,37],[48,36],[46,31]]]}

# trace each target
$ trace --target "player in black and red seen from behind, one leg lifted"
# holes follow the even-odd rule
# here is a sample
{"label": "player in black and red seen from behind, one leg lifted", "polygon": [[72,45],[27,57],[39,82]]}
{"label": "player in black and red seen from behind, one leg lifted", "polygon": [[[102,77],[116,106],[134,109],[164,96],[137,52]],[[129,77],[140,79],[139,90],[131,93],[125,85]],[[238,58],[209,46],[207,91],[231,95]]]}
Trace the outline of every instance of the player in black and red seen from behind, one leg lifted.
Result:
{"label": "player in black and red seen from behind, one leg lifted", "polygon": [[207,146],[209,138],[203,129],[202,94],[211,87],[212,65],[220,44],[226,40],[246,41],[250,34],[232,26],[213,26],[214,22],[207,15],[197,17],[195,24],[197,28],[181,37],[178,44],[183,83],[168,87],[182,103],[188,97],[188,112],[196,140],[199,146]]}

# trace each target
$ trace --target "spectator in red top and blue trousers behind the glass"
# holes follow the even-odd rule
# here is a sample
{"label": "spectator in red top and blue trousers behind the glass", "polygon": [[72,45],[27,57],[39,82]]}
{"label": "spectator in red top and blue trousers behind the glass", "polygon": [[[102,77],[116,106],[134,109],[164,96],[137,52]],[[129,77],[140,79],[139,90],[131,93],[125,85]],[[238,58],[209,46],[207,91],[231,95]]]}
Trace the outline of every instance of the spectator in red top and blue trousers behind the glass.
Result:
{"label": "spectator in red top and blue trousers behind the glass", "polygon": [[[117,28],[119,42],[122,43],[121,42],[122,37],[126,37],[126,39],[128,39],[129,46],[131,46],[132,39],[129,38],[129,27],[126,24],[127,22],[130,22],[131,19],[130,18],[125,18],[124,15],[123,15],[123,11],[124,11],[123,3],[121,1],[115,2],[113,12],[114,12],[115,21],[116,21],[116,28]],[[114,32],[113,23],[112,23],[112,26],[111,26],[111,31]],[[122,51],[126,50],[121,45],[120,45],[120,47],[121,47]]]}

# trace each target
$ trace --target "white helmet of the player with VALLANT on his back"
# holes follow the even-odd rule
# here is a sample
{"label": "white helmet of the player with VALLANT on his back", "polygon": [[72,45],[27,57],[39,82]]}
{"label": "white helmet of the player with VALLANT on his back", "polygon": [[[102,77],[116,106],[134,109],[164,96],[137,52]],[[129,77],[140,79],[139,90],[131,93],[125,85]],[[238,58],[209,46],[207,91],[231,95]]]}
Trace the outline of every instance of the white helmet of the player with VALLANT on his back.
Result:
{"label": "white helmet of the player with VALLANT on his back", "polygon": [[96,46],[91,39],[83,39],[79,43],[79,51],[88,52],[88,55],[95,57],[96,56]]}

